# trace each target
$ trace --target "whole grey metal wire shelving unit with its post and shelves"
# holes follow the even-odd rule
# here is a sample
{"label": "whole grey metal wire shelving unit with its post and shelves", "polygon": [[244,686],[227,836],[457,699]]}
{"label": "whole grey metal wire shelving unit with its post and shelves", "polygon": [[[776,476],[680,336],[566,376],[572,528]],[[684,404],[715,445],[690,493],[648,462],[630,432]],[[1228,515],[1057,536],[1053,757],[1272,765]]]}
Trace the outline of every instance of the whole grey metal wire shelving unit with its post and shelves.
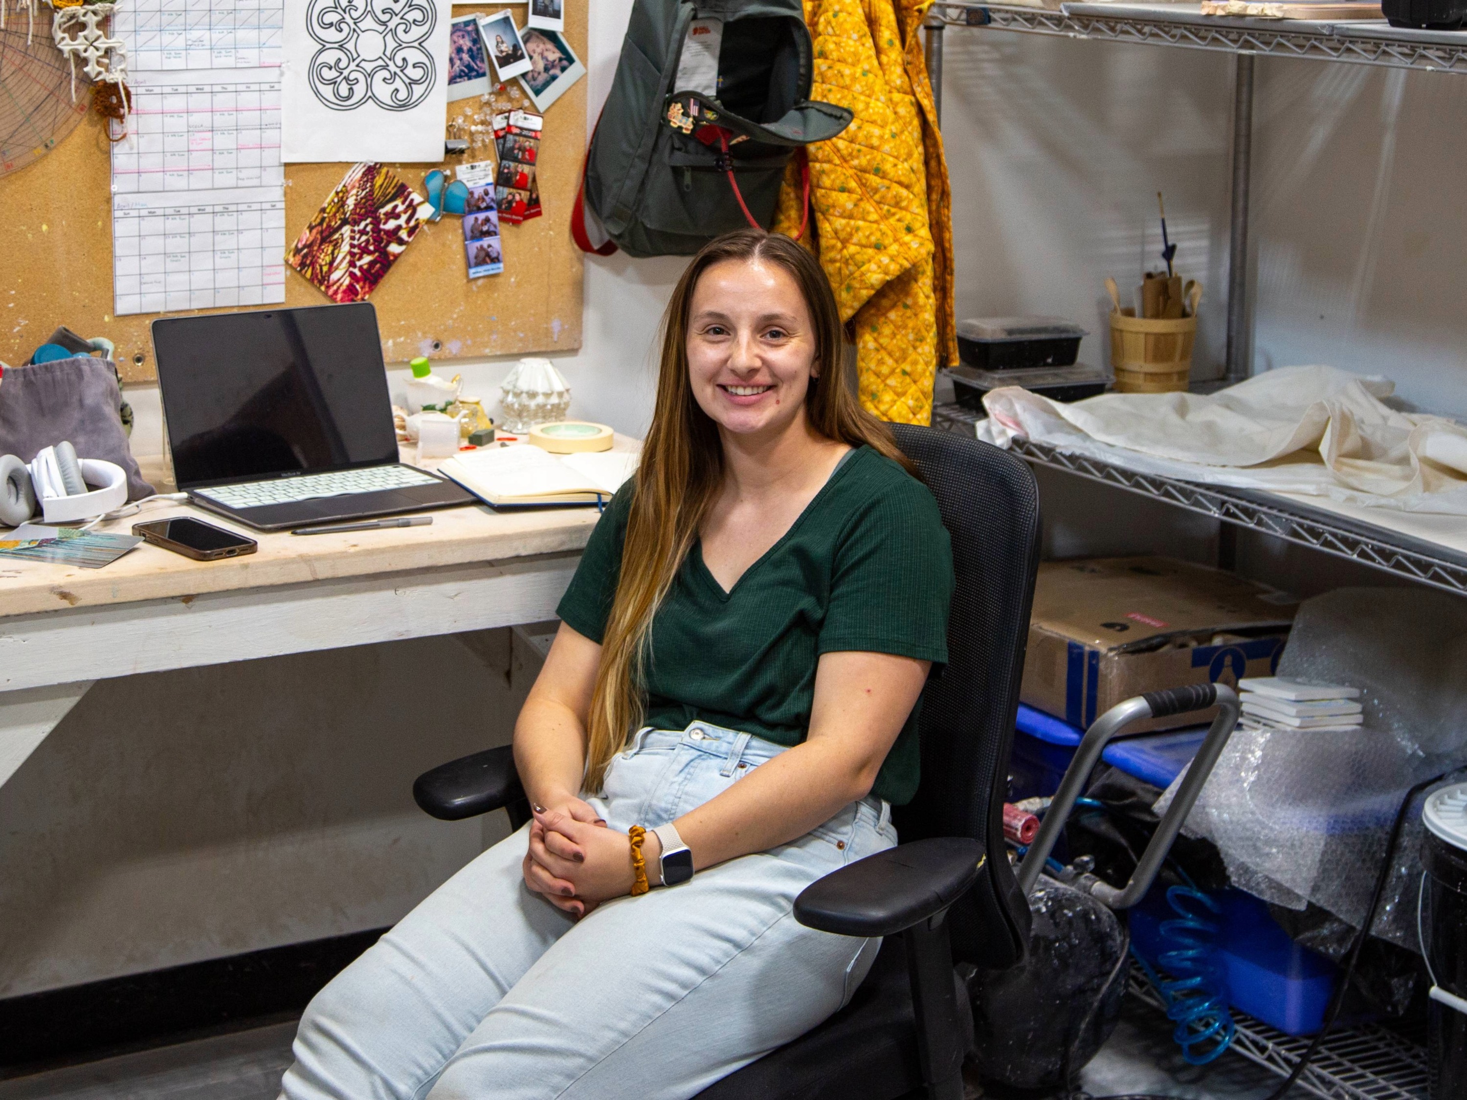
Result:
{"label": "whole grey metal wire shelving unit with its post and shelves", "polygon": [[[1251,374],[1247,333],[1248,189],[1253,144],[1254,59],[1372,65],[1419,72],[1467,73],[1467,31],[1397,29],[1383,22],[1300,22],[1203,16],[1190,3],[1061,3],[1058,9],[936,0],[927,15],[926,57],[942,107],[943,32],[983,28],[1080,41],[1134,43],[1207,50],[1234,56],[1231,226],[1228,271],[1228,384]],[[959,405],[933,409],[933,425],[970,434],[981,414]],[[1467,595],[1467,554],[1414,540],[1270,493],[1222,488],[1138,474],[1084,455],[1017,439],[1015,453],[1049,469],[1125,488],[1225,524],[1313,547],[1395,576]],[[1135,968],[1130,993],[1165,1011]],[[1234,1012],[1232,1049],[1279,1077],[1288,1077],[1310,1044],[1247,1013]],[[1300,1078],[1323,1100],[1426,1100],[1427,1056],[1420,1043],[1378,1025],[1332,1033]]]}

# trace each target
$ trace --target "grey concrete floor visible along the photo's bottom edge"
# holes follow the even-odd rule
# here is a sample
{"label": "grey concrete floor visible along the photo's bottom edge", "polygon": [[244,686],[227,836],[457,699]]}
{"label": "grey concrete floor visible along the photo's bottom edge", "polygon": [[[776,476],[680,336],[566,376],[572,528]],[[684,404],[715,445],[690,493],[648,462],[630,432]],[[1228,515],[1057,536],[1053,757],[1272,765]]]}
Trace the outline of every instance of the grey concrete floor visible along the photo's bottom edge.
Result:
{"label": "grey concrete floor visible along the photo's bottom edge", "polygon": [[[0,1100],[274,1100],[290,1065],[295,1024],[283,1022],[0,1081]],[[1094,1097],[1157,1093],[1178,1100],[1263,1100],[1279,1078],[1223,1055],[1188,1066],[1166,1019],[1131,1002],[1111,1041],[1086,1066]]]}

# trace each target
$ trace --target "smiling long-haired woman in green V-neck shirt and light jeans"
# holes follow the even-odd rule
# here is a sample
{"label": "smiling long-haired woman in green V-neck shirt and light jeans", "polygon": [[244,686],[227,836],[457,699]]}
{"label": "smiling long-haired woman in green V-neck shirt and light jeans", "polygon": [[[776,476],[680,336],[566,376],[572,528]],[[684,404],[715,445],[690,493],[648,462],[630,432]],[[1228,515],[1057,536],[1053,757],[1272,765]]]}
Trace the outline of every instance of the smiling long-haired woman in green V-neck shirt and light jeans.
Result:
{"label": "smiling long-haired woman in green V-neck shirt and light jeans", "polygon": [[877,942],[792,906],[896,843],[954,581],[841,336],[789,238],[692,260],[515,725],[534,820],[311,1002],[285,1097],[691,1097],[855,991]]}

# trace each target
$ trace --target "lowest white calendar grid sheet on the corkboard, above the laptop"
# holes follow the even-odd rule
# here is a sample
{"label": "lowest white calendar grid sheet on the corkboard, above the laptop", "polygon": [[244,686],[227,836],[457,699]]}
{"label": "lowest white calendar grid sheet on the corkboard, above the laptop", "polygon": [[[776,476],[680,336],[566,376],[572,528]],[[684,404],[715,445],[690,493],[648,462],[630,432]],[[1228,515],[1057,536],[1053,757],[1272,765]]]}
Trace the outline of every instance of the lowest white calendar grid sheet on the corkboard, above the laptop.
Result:
{"label": "lowest white calendar grid sheet on the corkboard, above the laptop", "polygon": [[283,199],[117,199],[111,236],[119,315],[285,301]]}

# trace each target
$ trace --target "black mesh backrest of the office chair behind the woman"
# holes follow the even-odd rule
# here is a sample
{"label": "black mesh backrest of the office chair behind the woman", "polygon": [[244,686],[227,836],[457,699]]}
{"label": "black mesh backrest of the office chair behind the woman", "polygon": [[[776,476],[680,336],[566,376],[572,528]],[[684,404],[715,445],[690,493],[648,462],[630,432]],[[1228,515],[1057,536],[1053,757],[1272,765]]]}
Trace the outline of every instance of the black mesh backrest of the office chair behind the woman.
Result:
{"label": "black mesh backrest of the office chair behind the woman", "polygon": [[1039,569],[1039,485],[1006,450],[936,428],[893,424],[937,499],[956,588],[948,667],[923,692],[921,785],[895,813],[902,840],[970,836],[984,874],[949,918],[955,959],[1002,969],[1024,958],[1028,903],[1003,848],[1003,799],[1028,616]]}

